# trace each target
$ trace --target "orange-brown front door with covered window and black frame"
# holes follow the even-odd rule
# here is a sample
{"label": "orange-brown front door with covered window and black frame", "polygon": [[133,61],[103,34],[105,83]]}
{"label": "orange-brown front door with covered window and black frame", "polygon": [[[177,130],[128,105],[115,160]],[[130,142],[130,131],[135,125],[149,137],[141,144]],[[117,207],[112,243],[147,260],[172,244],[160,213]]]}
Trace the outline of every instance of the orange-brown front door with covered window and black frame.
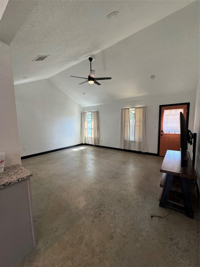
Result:
{"label": "orange-brown front door with covered window and black frame", "polygon": [[159,156],[165,156],[168,149],[180,151],[180,111],[186,118],[187,105],[161,108]]}

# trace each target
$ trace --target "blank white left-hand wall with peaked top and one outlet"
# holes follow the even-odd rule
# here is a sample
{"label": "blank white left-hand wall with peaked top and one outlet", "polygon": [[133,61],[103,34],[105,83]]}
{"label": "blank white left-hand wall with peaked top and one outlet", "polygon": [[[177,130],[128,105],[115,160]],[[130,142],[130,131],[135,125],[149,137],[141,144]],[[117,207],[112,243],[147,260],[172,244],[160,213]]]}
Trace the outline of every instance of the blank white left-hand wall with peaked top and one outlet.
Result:
{"label": "blank white left-hand wall with peaked top and one outlet", "polygon": [[82,143],[82,108],[49,80],[15,85],[15,95],[21,156]]}

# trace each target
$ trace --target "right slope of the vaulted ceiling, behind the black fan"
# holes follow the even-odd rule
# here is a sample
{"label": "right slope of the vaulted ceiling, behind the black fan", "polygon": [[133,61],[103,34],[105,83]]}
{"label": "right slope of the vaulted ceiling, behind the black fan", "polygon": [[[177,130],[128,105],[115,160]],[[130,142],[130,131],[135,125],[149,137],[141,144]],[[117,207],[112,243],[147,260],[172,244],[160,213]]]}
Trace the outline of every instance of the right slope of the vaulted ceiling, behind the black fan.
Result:
{"label": "right slope of the vaulted ceiling, behind the black fan", "polygon": [[[88,59],[49,78],[82,106],[148,96],[192,92],[199,77],[199,3],[169,15],[95,55],[102,85],[78,85],[87,77]],[[150,79],[154,74],[156,78]],[[83,95],[82,93],[86,93]]]}

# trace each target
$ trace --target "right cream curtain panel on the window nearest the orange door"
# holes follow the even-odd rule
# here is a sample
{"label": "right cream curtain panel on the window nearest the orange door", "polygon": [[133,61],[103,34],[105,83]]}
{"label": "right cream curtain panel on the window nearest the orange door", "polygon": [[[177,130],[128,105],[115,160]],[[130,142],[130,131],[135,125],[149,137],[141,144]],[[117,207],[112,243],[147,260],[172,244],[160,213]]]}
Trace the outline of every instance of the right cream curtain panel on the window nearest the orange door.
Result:
{"label": "right cream curtain panel on the window nearest the orange door", "polygon": [[135,150],[147,152],[147,107],[135,108]]}

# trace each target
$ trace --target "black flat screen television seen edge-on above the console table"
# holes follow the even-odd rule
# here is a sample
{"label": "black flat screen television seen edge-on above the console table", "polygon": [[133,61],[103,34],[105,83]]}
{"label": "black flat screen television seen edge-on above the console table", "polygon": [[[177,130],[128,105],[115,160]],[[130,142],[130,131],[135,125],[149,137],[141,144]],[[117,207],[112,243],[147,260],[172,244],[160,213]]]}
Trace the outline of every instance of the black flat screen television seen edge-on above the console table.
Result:
{"label": "black flat screen television seen edge-on above the console table", "polygon": [[180,112],[180,139],[181,139],[181,167],[187,167],[187,129],[186,120],[182,112]]}

